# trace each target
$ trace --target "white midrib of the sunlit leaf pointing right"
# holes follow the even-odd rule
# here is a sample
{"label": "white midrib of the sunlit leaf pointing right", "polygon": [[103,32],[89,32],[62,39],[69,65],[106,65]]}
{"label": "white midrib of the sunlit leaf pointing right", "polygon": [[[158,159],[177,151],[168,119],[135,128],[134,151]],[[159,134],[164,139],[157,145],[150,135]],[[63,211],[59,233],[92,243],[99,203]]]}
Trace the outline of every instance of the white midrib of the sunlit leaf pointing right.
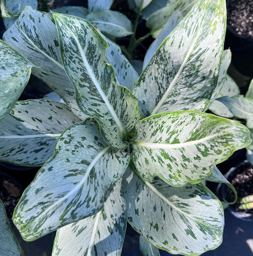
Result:
{"label": "white midrib of the sunlit leaf pointing right", "polygon": [[184,148],[184,147],[189,147],[193,145],[197,145],[199,143],[206,142],[210,139],[213,139],[217,136],[220,135],[225,135],[228,134],[226,133],[215,133],[213,135],[209,135],[205,138],[201,138],[199,140],[192,140],[192,141],[186,141],[186,142],[181,142],[177,144],[166,144],[166,143],[152,143],[152,142],[145,142],[145,141],[134,141],[134,145],[144,147],[144,148],[151,148],[151,149],[173,149],[173,148]]}

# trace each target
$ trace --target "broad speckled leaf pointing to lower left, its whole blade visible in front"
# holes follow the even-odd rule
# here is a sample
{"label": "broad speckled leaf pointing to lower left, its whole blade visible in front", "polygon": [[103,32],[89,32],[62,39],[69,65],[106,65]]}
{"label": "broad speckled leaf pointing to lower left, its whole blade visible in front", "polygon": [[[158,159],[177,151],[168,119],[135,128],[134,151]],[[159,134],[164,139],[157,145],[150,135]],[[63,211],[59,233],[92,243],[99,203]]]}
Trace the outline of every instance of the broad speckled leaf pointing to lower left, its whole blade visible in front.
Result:
{"label": "broad speckled leaf pointing to lower left, its whole blade visible in front", "polygon": [[15,226],[32,241],[99,212],[128,163],[128,153],[105,144],[94,119],[72,125],[23,193],[13,214]]}

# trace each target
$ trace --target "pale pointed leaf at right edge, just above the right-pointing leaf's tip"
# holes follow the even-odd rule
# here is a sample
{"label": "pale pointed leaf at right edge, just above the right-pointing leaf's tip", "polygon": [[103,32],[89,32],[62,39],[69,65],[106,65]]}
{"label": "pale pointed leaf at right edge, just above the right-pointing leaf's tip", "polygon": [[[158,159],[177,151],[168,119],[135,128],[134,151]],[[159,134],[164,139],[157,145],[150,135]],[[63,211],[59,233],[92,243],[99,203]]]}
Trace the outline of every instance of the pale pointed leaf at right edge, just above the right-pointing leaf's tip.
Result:
{"label": "pale pointed leaf at right edge, just above the right-pointing leaf's tip", "polygon": [[253,99],[244,98],[243,95],[222,97],[217,99],[222,102],[231,113],[241,119],[247,120],[247,127],[253,129]]}

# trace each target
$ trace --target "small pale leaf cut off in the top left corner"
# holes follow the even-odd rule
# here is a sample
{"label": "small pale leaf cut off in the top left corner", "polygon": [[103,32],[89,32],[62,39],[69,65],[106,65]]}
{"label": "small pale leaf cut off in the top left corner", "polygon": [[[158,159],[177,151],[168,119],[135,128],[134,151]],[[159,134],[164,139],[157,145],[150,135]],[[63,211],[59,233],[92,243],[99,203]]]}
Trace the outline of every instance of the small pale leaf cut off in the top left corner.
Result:
{"label": "small pale leaf cut off in the top left corner", "polygon": [[18,15],[22,12],[23,7],[26,5],[37,9],[37,0],[2,0],[1,11],[6,29],[12,26],[15,20],[17,20]]}

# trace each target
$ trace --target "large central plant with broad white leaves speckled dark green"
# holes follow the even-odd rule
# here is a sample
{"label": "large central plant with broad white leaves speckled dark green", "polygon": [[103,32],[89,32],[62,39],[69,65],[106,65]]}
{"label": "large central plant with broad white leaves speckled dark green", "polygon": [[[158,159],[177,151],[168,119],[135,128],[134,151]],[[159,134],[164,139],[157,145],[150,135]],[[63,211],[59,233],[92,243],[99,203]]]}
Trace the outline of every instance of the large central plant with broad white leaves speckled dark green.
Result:
{"label": "large central plant with broad white leaves speckled dark green", "polygon": [[85,19],[23,9],[0,42],[4,86],[19,94],[31,71],[65,102],[3,111],[1,161],[42,165],[13,214],[25,240],[58,230],[53,255],[120,255],[128,221],[143,253],[221,244],[223,207],[201,181],[226,182],[215,165],[251,142],[244,125],[205,113],[225,13],[225,1],[199,0],[137,77]]}

